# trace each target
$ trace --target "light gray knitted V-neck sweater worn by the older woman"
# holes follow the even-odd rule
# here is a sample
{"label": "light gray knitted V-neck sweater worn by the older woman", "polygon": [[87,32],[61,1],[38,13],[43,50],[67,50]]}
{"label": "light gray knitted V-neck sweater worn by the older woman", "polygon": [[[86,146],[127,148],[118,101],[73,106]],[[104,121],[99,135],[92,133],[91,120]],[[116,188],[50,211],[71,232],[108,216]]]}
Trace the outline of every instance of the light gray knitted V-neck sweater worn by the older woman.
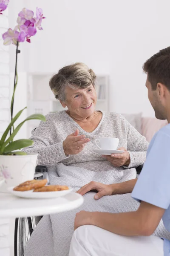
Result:
{"label": "light gray knitted V-neck sweater worn by the older woman", "polygon": [[[125,171],[127,174],[127,169],[144,163],[148,143],[145,137],[139,134],[122,115],[101,112],[102,119],[99,125],[90,133],[84,131],[65,111],[48,114],[46,122],[40,122],[30,138],[34,140],[34,144],[24,148],[24,151],[37,152],[39,154],[39,164],[47,167],[62,163],[65,166],[74,166],[93,172],[123,171],[122,175],[119,173],[122,177]],[[66,157],[62,146],[63,140],[77,128],[80,135],[84,134],[91,141],[86,144],[79,154]],[[130,165],[128,167],[114,167],[108,160],[95,153],[92,149],[97,149],[94,141],[98,137],[119,138],[119,147],[127,148],[130,153]],[[132,169],[130,170],[132,171]],[[120,177],[119,180],[116,179],[115,181],[121,181]]]}

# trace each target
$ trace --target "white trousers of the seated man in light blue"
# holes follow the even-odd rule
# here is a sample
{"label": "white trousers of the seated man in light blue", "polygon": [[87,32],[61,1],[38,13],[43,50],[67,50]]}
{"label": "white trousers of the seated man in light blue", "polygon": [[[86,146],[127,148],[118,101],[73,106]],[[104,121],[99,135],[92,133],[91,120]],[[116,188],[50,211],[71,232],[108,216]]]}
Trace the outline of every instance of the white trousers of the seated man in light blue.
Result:
{"label": "white trousers of the seated man in light blue", "polygon": [[74,231],[69,256],[164,256],[163,240],[156,236],[120,236],[85,225]]}

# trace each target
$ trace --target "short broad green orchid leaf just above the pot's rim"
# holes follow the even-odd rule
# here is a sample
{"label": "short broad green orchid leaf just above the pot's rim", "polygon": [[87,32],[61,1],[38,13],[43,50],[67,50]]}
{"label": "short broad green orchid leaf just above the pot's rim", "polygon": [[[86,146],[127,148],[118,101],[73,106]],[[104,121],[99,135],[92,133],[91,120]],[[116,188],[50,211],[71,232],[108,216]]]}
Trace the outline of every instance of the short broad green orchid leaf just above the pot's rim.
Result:
{"label": "short broad green orchid leaf just above the pot's rim", "polygon": [[25,148],[28,146],[31,146],[34,143],[33,140],[26,140],[26,139],[21,139],[21,140],[15,140],[6,146],[4,148],[3,153],[8,153],[17,149]]}

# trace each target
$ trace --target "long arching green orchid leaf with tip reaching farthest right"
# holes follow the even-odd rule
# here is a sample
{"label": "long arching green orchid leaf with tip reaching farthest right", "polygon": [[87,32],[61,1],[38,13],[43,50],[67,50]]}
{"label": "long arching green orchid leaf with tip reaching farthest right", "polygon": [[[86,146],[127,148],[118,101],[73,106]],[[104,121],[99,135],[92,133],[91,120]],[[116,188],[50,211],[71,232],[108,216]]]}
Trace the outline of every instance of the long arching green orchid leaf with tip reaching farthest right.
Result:
{"label": "long arching green orchid leaf with tip reaching farthest right", "polygon": [[31,119],[39,119],[39,120],[42,120],[42,121],[46,121],[45,119],[45,116],[41,115],[41,114],[33,114],[31,116],[28,116],[23,122],[21,122],[16,128],[15,130],[13,131],[13,133],[11,134],[11,136],[3,143],[1,144],[1,148],[0,148],[0,154],[3,154],[3,151],[4,151],[4,148],[5,146],[10,143],[14,136],[17,134],[17,132],[20,130],[20,128],[22,127],[22,125],[28,121],[28,120],[31,120]]}

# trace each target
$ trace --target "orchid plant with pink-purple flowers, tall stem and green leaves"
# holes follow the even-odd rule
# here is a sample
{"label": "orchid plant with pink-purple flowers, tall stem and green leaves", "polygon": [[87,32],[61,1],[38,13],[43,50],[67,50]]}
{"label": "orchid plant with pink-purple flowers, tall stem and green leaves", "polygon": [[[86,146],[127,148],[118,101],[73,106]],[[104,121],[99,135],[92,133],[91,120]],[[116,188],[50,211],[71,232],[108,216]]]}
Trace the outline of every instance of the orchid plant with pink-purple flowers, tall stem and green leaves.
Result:
{"label": "orchid plant with pink-purple flowers, tall stem and green leaves", "polygon": [[[0,14],[2,14],[2,11],[6,9],[8,5],[8,0],[0,0]],[[37,33],[37,29],[42,30],[41,23],[42,19],[44,19],[42,14],[42,9],[37,8],[36,9],[36,16],[34,17],[34,12],[31,10],[28,10],[26,8],[23,8],[23,10],[18,14],[17,18],[17,26],[15,26],[14,30],[8,29],[7,32],[3,34],[3,44],[9,45],[14,44],[17,46],[16,50],[16,62],[15,62],[15,75],[14,75],[14,91],[11,99],[11,122],[6,128],[6,131],[3,133],[3,136],[0,140],[0,155],[25,155],[25,152],[17,151],[21,148],[28,147],[33,144],[32,140],[27,139],[21,139],[21,140],[15,140],[14,136],[17,134],[17,132],[20,130],[22,125],[31,119],[39,119],[45,122],[45,116],[41,114],[33,114],[31,116],[28,116],[23,122],[21,122],[19,125],[17,125],[16,128],[14,128],[14,122],[19,118],[21,113],[24,109],[20,110],[16,116],[13,118],[13,107],[14,107],[14,93],[17,87],[17,55],[20,53],[20,50],[18,49],[19,43],[27,41],[28,43],[31,43],[31,36],[34,36]],[[10,133],[10,134],[9,134]],[[8,135],[9,134],[9,135]],[[8,138],[7,138],[8,137]]]}

